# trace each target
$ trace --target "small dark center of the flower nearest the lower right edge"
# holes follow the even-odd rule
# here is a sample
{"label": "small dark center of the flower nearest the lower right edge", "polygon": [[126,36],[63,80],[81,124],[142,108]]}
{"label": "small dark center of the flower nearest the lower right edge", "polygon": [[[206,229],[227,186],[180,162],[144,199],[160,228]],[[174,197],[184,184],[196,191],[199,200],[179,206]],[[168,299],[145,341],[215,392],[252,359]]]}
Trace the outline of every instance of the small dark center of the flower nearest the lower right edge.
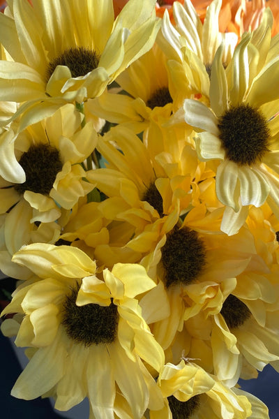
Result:
{"label": "small dark center of the flower nearest the lower right edge", "polygon": [[251,316],[251,312],[239,298],[232,294],[223,302],[220,311],[229,329],[239,328]]}

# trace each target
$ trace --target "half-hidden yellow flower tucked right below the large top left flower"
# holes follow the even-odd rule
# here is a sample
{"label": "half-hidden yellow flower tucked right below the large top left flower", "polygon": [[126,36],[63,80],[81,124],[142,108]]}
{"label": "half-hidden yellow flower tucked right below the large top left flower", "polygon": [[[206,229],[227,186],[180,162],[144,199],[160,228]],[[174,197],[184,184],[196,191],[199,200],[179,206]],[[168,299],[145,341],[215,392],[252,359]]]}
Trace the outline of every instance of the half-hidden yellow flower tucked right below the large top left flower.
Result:
{"label": "half-hidden yellow flower tucked right below the large top left flower", "polygon": [[87,107],[93,115],[128,126],[135,133],[148,128],[151,119],[165,124],[185,98],[169,79],[167,59],[156,43],[123,71],[116,82],[117,94],[104,93],[89,100]]}

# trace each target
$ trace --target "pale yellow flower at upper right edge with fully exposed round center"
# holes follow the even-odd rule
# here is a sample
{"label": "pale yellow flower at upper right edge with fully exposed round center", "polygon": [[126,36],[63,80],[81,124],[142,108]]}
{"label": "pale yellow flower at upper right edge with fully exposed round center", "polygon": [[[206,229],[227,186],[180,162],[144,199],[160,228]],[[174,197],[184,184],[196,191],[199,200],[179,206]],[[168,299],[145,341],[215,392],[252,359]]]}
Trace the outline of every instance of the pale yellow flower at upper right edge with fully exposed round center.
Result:
{"label": "pale yellow flower at upper right edge with fully exposed round center", "polygon": [[[254,43],[259,34],[265,34],[266,46]],[[222,230],[228,234],[243,225],[249,205],[267,202],[279,216],[279,59],[276,47],[269,50],[270,36],[267,21],[243,38],[226,70],[220,47],[211,71],[210,107],[191,99],[183,106],[186,122],[197,130],[199,159],[216,163],[216,193],[226,206]],[[261,54],[258,66],[254,54]]]}

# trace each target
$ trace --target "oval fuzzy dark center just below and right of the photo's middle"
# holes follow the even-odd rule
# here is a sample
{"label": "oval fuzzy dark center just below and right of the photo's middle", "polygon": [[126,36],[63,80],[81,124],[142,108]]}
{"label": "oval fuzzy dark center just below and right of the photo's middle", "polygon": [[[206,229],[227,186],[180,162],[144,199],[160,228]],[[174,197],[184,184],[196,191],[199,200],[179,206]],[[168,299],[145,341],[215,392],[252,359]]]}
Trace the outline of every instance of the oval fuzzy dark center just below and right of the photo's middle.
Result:
{"label": "oval fuzzy dark center just below and right of the photo's middle", "polygon": [[168,233],[161,251],[167,288],[173,284],[191,284],[206,264],[204,242],[188,227],[176,227]]}

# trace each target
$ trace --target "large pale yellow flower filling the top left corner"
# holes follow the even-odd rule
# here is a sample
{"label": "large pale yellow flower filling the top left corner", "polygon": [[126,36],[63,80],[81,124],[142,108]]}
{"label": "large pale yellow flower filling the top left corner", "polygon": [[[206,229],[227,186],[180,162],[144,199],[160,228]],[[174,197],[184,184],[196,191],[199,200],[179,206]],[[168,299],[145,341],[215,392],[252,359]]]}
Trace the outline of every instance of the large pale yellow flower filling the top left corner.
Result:
{"label": "large pale yellow flower filling the top left corner", "polygon": [[130,0],[114,21],[112,0],[81,0],[78,8],[73,0],[9,1],[0,16],[7,52],[0,100],[27,102],[18,112],[32,118],[38,111],[38,120],[66,102],[99,96],[153,45],[160,26],[154,6]]}

